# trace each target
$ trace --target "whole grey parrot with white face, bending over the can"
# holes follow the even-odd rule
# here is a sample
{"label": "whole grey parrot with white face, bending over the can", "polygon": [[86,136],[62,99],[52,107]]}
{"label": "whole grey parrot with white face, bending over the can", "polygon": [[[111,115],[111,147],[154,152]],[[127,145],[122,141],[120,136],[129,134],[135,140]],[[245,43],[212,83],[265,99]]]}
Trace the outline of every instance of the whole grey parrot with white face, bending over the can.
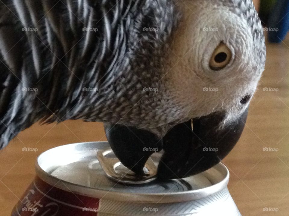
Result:
{"label": "whole grey parrot with white face, bending over the can", "polygon": [[232,150],[266,56],[251,0],[5,0],[0,51],[1,148],[39,120],[100,121],[139,175],[163,149],[160,179]]}

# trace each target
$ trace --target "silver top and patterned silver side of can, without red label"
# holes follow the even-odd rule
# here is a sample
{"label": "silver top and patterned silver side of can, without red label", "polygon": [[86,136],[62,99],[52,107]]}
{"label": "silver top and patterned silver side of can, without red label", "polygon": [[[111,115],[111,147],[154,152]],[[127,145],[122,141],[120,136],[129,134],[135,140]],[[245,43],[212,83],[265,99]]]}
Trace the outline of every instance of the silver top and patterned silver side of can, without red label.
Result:
{"label": "silver top and patterned silver side of can, without red label", "polygon": [[[98,216],[241,215],[228,191],[229,171],[223,164],[184,179],[123,184],[109,179],[96,157],[98,151],[108,148],[107,142],[90,142],[50,149],[36,162],[37,176],[75,196],[99,200],[96,209],[86,208],[86,203],[78,205],[83,207],[83,211],[94,211]],[[152,156],[156,165],[160,157],[160,153]],[[116,173],[129,173],[121,165],[114,169]],[[57,202],[57,197],[54,197],[54,202]]]}

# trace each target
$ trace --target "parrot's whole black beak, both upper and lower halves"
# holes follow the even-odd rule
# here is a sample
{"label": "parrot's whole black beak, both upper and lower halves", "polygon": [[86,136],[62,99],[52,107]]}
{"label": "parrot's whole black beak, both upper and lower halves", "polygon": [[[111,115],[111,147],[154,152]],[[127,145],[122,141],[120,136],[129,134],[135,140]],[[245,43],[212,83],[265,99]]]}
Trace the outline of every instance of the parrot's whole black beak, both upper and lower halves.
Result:
{"label": "parrot's whole black beak, both upper and lower halves", "polygon": [[[117,158],[138,175],[148,158],[161,149],[159,179],[176,179],[201,173],[220,162],[233,149],[244,129],[248,109],[241,117],[219,128],[225,113],[213,113],[176,125],[163,139],[123,125],[105,125],[107,140]],[[192,127],[193,125],[193,127]]]}

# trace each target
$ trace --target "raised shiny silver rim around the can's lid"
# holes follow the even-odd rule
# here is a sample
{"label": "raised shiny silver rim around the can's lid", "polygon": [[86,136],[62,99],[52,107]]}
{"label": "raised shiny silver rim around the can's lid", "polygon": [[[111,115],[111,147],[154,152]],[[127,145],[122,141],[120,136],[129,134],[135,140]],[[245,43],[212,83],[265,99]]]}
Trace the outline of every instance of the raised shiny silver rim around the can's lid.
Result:
{"label": "raised shiny silver rim around the can's lid", "polygon": [[[83,143],[72,143],[64,146],[72,146],[72,145],[81,145],[81,144],[92,144],[92,143],[107,143],[107,142],[83,142]],[[58,146],[59,147],[59,146]],[[54,147],[52,149],[56,149],[58,147]],[[51,149],[49,149],[51,150]],[[49,151],[47,150],[47,151]],[[46,151],[45,151],[46,152]],[[230,173],[228,168],[222,164],[221,162],[211,169],[216,169],[220,173],[224,174],[225,177],[218,183],[213,184],[209,187],[204,187],[197,190],[189,190],[189,191],[181,191],[181,192],[172,192],[172,193],[126,193],[126,192],[117,192],[110,191],[100,188],[93,188],[88,186],[82,186],[75,183],[67,182],[61,179],[58,179],[55,176],[47,173],[43,170],[39,165],[39,158],[45,154],[45,152],[41,153],[35,163],[36,174],[37,176],[50,184],[52,187],[57,187],[59,189],[77,193],[84,196],[89,196],[98,199],[109,199],[114,201],[127,201],[127,202],[149,202],[149,203],[171,203],[171,202],[185,202],[196,199],[202,199],[206,196],[210,196],[214,193],[220,192],[225,189],[229,182]],[[208,170],[207,170],[208,171]],[[205,172],[207,172],[205,171]]]}

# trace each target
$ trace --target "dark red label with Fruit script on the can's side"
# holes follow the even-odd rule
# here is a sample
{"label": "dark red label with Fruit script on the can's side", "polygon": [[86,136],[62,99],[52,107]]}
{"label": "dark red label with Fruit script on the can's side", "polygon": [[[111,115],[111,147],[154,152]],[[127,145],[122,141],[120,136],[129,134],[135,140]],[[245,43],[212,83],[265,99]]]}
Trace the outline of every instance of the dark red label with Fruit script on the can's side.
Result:
{"label": "dark red label with Fruit script on the can's side", "polygon": [[96,216],[98,206],[97,198],[61,190],[36,177],[11,216]]}

